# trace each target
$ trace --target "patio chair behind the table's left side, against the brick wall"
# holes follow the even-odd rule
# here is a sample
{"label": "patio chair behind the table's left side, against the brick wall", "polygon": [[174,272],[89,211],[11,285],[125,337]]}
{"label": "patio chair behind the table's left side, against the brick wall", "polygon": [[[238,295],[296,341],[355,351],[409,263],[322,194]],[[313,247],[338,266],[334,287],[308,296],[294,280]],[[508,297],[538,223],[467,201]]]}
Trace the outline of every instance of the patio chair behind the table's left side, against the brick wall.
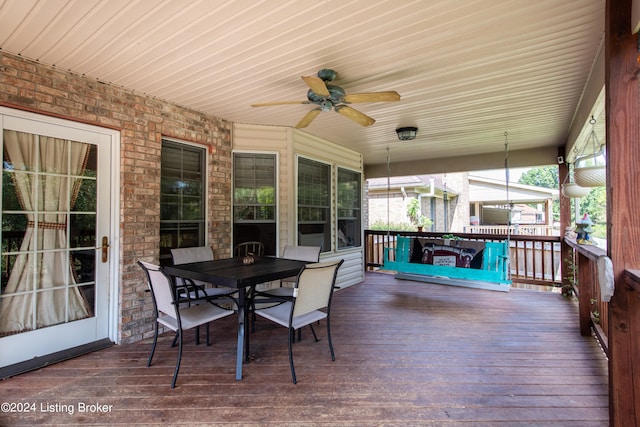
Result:
{"label": "patio chair behind the table's left side, against the brick wall", "polygon": [[[209,246],[198,246],[191,248],[171,249],[173,265],[186,264],[190,262],[213,260],[213,250]],[[235,289],[216,287],[213,283],[206,283],[199,280],[179,279],[181,284],[176,283],[180,298],[198,300],[208,299],[217,302],[228,302],[229,298],[235,302],[233,294]]]}

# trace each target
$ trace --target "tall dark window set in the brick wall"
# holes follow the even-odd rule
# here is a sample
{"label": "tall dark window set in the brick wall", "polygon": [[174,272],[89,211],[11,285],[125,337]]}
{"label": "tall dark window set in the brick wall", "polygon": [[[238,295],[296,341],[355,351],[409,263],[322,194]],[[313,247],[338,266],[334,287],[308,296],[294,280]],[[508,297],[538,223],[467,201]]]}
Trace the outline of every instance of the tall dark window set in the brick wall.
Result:
{"label": "tall dark window set in the brick wall", "polygon": [[206,150],[162,140],[160,165],[160,262],[172,248],[205,244]]}

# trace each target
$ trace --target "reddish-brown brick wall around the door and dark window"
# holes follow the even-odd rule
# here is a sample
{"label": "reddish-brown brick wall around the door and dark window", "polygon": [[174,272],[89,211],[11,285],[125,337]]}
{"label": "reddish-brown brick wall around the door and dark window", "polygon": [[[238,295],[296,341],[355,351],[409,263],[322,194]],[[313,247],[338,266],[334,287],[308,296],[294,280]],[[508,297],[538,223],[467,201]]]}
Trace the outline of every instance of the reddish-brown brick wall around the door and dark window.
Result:
{"label": "reddish-brown brick wall around the door and dark window", "polygon": [[208,239],[229,254],[231,123],[3,52],[0,105],[120,130],[119,334],[122,343],[151,336],[153,306],[135,262],[158,261],[161,139],[208,147]]}

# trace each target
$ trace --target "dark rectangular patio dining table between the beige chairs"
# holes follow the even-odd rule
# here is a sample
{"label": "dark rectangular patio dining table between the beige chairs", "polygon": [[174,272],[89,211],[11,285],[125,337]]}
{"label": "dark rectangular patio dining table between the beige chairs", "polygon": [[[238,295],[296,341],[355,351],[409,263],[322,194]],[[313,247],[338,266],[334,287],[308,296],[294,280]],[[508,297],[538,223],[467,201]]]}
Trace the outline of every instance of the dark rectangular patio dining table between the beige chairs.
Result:
{"label": "dark rectangular patio dining table between the beige chairs", "polygon": [[249,360],[248,291],[260,283],[296,276],[306,264],[306,261],[274,257],[255,257],[253,264],[244,264],[243,257],[235,257],[167,266],[164,270],[172,277],[201,280],[238,290],[236,380],[239,381],[243,360]]}

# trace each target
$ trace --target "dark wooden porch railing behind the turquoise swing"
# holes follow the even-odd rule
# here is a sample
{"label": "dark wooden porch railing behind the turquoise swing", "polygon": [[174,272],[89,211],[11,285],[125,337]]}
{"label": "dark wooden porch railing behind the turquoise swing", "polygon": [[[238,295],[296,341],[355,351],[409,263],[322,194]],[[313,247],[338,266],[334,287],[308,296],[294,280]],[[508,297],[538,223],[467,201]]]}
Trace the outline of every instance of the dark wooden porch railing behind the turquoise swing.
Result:
{"label": "dark wooden porch railing behind the turquoise swing", "polygon": [[[384,261],[384,248],[396,247],[397,236],[440,238],[443,233],[411,231],[365,230],[365,262],[368,270],[380,268]],[[463,239],[497,242],[507,240],[506,235],[455,233]],[[517,283],[543,286],[561,286],[561,243],[559,236],[512,235],[509,238],[511,280]]]}

